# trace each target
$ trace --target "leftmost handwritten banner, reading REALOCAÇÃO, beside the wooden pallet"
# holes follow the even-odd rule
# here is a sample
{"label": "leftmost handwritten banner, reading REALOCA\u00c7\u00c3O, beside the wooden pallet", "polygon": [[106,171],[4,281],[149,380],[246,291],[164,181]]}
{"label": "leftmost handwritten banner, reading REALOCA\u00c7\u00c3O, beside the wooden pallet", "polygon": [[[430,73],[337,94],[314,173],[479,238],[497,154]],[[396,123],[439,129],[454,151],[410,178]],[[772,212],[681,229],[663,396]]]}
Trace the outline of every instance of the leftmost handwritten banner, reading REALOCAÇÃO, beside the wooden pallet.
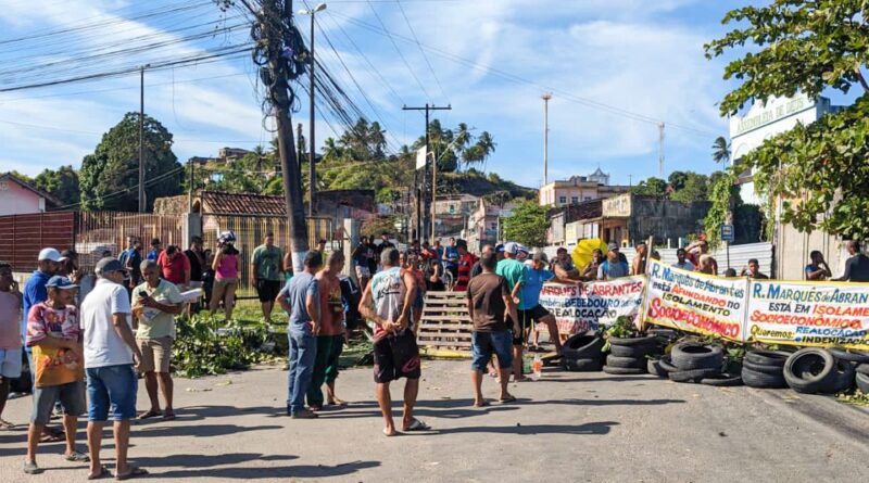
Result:
{"label": "leftmost handwritten banner, reading REALOCA\u00c7\u00c3O, beside the wooden pallet", "polygon": [[547,283],[540,293],[540,305],[558,323],[558,332],[576,333],[610,326],[620,316],[635,320],[643,303],[645,276],[625,277],[583,287]]}

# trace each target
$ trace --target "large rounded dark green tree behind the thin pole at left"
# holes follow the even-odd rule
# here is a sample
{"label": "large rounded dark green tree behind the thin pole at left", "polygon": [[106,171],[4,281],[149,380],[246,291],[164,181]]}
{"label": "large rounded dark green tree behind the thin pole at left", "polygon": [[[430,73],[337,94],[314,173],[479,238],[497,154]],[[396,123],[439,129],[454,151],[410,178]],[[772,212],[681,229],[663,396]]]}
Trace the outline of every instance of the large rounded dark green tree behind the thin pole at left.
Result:
{"label": "large rounded dark green tree behind the thin pole at left", "polygon": [[[184,169],[172,152],[172,134],[144,116],[144,180],[147,209],[154,200],[181,192]],[[81,162],[79,186],[84,211],[138,211],[139,113],[127,113],[104,134]]]}

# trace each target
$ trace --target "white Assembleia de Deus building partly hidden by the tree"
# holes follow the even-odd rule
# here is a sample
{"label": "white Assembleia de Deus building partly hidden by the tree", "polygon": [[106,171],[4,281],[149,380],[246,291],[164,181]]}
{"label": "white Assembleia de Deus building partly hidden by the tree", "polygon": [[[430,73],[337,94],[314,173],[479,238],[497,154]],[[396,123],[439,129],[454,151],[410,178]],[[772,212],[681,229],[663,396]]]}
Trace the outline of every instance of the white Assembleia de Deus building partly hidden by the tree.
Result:
{"label": "white Assembleia de Deus building partly hidden by the tree", "polygon": [[[760,147],[764,141],[793,129],[796,123],[808,125],[839,109],[831,105],[827,98],[811,100],[805,94],[797,94],[794,98],[772,98],[766,103],[755,102],[745,115],[730,118],[731,160],[739,164],[743,156]],[[740,183],[743,202],[757,205],[763,203],[755,193],[754,181],[748,170],[740,175]]]}

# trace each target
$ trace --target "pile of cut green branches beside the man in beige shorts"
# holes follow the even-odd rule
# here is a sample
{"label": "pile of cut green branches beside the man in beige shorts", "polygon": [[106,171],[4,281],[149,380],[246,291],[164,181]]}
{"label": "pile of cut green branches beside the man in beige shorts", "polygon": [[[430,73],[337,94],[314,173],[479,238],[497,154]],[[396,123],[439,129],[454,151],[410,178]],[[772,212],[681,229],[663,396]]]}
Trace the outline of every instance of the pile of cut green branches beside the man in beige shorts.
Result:
{"label": "pile of cut green branches beside the man in beige shorts", "polygon": [[262,325],[230,326],[218,330],[214,319],[197,314],[192,319],[176,319],[177,338],[172,346],[175,372],[199,378],[245,369],[273,356],[264,345],[269,334]]}

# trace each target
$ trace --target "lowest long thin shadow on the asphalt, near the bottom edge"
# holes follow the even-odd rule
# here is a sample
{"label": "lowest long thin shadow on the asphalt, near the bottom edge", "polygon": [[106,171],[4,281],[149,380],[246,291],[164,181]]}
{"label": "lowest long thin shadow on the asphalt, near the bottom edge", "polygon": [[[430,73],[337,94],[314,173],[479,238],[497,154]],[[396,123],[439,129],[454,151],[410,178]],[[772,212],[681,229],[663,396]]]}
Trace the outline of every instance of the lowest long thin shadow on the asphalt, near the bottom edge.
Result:
{"label": "lowest long thin shadow on the asphalt, near the bottom edge", "polygon": [[[139,461],[137,459],[137,461]],[[261,480],[261,479],[291,479],[291,478],[329,478],[344,476],[356,471],[376,468],[380,461],[352,461],[336,466],[326,465],[299,465],[276,468],[193,468],[184,470],[169,470],[163,473],[152,473],[156,478],[214,478],[226,480]]]}

